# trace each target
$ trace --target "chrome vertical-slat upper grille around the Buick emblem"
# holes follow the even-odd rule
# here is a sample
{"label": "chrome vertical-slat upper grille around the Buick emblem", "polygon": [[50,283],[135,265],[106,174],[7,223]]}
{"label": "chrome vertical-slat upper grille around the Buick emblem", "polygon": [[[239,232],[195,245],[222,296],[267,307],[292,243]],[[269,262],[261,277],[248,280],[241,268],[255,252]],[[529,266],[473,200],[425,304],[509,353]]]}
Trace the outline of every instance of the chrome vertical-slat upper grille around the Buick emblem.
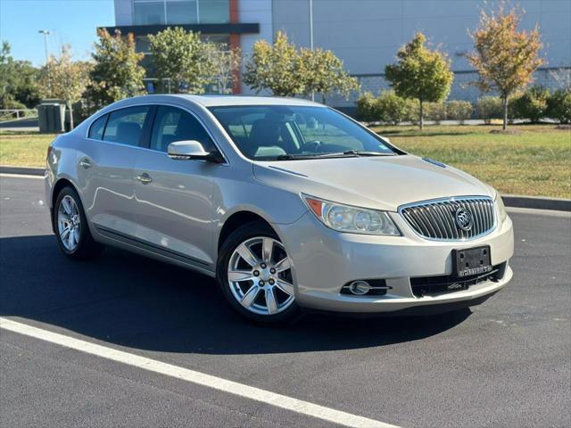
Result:
{"label": "chrome vertical-slat upper grille around the Buick emblem", "polygon": [[[457,219],[462,209],[471,217],[468,230],[460,227]],[[418,202],[404,206],[400,212],[418,235],[429,239],[465,241],[488,234],[495,226],[493,201],[486,197]]]}

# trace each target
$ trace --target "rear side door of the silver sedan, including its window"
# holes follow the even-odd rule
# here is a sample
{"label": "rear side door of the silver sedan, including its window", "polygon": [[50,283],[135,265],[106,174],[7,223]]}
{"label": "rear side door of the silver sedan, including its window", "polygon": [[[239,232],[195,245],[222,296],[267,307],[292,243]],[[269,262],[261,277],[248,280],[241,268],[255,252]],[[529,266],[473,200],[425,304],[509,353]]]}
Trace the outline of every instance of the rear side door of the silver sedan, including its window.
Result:
{"label": "rear side door of the silver sedan, including its window", "polygon": [[152,110],[134,106],[96,119],[78,152],[84,208],[99,233],[135,235],[133,168]]}

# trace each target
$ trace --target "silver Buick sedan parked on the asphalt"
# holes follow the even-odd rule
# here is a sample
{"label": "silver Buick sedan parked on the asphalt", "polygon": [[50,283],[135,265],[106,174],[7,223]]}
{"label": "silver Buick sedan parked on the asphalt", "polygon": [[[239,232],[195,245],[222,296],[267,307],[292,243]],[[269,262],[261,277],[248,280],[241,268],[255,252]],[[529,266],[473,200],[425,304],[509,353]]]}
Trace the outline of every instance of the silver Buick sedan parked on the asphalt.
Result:
{"label": "silver Buick sedan parked on the asphalt", "polygon": [[71,259],[113,245],[195,269],[261,323],[466,308],[512,277],[492,187],[297,99],[113,103],[50,145],[46,201]]}

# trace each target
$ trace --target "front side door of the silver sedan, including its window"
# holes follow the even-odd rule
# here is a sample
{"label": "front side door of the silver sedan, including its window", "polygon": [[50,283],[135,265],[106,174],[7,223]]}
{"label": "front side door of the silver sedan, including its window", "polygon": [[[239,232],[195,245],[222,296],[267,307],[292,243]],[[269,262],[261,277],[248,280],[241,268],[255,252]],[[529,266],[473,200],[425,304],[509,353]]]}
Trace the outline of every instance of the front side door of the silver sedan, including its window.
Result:
{"label": "front side door of the silver sedan, including its window", "polygon": [[224,166],[207,161],[178,161],[170,143],[196,140],[215,150],[198,119],[178,107],[160,105],[149,136],[149,150],[137,155],[135,185],[137,238],[156,251],[198,268],[212,268],[212,176]]}

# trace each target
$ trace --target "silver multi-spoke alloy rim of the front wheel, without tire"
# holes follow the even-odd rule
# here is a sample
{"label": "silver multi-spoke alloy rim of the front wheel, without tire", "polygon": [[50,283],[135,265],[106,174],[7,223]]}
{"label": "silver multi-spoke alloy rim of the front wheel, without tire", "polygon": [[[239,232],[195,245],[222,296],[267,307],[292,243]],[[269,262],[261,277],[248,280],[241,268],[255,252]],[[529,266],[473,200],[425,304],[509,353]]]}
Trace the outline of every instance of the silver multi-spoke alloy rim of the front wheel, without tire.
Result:
{"label": "silver multi-spoke alloy rim of the front wheel, without tire", "polygon": [[292,261],[284,245],[258,236],[236,247],[228,262],[228,286],[235,299],[258,315],[275,315],[294,302]]}

